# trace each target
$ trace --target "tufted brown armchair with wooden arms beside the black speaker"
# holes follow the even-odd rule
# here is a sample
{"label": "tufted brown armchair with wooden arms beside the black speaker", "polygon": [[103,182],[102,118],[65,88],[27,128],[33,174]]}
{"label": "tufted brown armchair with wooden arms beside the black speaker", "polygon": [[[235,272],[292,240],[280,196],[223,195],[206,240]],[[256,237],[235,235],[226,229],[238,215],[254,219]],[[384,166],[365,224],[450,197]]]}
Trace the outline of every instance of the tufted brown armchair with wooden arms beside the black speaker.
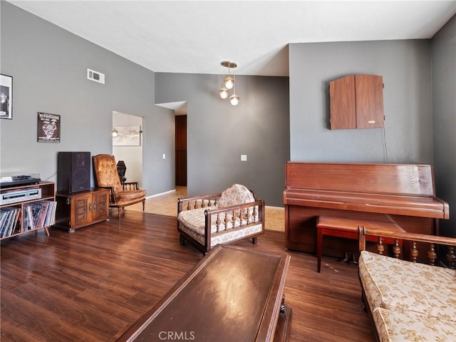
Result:
{"label": "tufted brown armchair with wooden arms beside the black speaker", "polygon": [[142,211],[145,205],[145,190],[138,187],[138,182],[128,182],[122,185],[117,172],[117,165],[113,155],[94,155],[93,172],[98,187],[110,189],[109,207],[120,211],[131,204],[142,202]]}

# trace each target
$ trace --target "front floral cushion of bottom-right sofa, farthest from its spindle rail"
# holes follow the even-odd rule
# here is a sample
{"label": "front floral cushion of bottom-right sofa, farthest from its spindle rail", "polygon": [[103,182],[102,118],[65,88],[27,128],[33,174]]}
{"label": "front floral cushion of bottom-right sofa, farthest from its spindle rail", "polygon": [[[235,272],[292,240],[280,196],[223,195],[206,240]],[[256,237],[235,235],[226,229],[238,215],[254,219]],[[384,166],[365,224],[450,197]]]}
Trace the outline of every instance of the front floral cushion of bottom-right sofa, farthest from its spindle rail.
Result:
{"label": "front floral cushion of bottom-right sofa, farthest from its spindle rail", "polygon": [[380,342],[456,341],[456,325],[403,309],[375,308],[373,320]]}

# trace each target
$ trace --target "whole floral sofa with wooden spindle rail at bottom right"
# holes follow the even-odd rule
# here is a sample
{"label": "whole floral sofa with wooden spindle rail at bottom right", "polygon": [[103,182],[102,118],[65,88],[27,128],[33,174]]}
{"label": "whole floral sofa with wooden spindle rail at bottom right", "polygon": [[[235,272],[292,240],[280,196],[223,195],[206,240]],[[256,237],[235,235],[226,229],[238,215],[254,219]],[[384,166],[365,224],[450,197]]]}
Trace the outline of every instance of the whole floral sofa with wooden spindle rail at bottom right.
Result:
{"label": "whole floral sofa with wooden spindle rail at bottom right", "polygon": [[[365,227],[358,234],[363,302],[378,341],[456,341],[456,239]],[[396,239],[395,257],[366,251],[368,235],[379,237],[380,254],[387,252],[383,238]],[[403,247],[410,247],[410,255],[401,255],[398,239]],[[429,246],[426,259],[430,264],[416,262],[418,243],[421,248]]]}

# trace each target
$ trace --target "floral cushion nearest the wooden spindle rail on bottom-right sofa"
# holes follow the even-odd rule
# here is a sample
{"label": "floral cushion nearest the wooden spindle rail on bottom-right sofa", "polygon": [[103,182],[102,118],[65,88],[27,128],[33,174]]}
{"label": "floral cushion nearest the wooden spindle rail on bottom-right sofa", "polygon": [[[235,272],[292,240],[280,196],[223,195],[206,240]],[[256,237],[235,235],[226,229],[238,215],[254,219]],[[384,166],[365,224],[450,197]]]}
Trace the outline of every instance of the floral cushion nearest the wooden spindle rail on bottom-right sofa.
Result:
{"label": "floral cushion nearest the wooden spindle rail on bottom-right sofa", "polygon": [[455,270],[363,251],[359,273],[371,309],[402,309],[456,322]]}

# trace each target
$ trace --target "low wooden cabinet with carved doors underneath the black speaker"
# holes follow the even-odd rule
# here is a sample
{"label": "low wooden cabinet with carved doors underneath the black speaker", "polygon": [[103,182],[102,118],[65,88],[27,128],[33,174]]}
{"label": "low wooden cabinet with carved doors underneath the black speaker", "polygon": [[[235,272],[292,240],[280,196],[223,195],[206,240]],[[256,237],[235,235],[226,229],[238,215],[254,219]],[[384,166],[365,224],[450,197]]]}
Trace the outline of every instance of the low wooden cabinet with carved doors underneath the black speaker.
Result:
{"label": "low wooden cabinet with carved doors underneath the black speaker", "polygon": [[56,224],[74,232],[75,229],[109,218],[109,190],[93,189],[76,194],[57,194]]}

